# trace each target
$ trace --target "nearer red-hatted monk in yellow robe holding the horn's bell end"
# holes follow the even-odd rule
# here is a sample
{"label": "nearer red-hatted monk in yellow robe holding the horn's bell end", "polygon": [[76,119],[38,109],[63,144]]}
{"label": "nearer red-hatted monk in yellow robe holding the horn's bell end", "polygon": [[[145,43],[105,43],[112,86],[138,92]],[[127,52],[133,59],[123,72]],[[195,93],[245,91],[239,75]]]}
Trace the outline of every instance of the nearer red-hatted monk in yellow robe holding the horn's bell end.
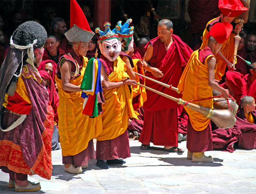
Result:
{"label": "nearer red-hatted monk in yellow robe holding the horn's bell end", "polygon": [[[214,81],[216,72],[216,59],[214,54],[221,49],[222,43],[228,39],[232,31],[232,25],[228,22],[216,23],[207,35],[209,38],[207,47],[192,53],[186,69],[179,80],[178,88],[183,91],[182,100],[200,100],[212,97],[212,90],[221,92],[224,98],[229,96],[228,90],[220,87]],[[191,84],[192,83],[192,84]],[[197,101],[201,107],[213,108],[213,100]],[[188,159],[192,162],[213,162],[211,156],[205,156],[205,151],[213,150],[210,119],[202,114],[184,106],[189,122],[187,127]],[[193,153],[193,156],[192,156]]]}

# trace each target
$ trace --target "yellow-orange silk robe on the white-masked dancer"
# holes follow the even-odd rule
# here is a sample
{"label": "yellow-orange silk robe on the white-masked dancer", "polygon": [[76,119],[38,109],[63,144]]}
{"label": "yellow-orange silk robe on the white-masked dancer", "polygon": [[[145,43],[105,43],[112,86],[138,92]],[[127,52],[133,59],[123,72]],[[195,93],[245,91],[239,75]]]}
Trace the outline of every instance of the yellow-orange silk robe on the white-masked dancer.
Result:
{"label": "yellow-orange silk robe on the white-masked dancer", "polygon": [[[129,78],[126,73],[126,63],[118,57],[114,61],[114,70],[109,74],[110,82],[120,82]],[[97,140],[115,139],[126,132],[128,119],[137,118],[133,110],[132,97],[127,84],[110,90],[103,87],[105,104],[102,109],[102,133],[98,135]]]}

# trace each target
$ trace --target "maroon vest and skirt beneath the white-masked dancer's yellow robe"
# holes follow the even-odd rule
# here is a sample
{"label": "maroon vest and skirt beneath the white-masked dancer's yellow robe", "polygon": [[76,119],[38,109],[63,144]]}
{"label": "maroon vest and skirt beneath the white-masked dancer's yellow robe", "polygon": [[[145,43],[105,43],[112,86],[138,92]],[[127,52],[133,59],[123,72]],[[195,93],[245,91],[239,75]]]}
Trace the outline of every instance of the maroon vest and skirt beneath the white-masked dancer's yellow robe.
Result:
{"label": "maroon vest and skirt beneath the white-masked dancer's yellow robe", "polygon": [[[114,70],[114,62],[109,61],[103,55],[100,57],[100,61],[105,67],[105,71],[109,76],[110,73]],[[119,159],[119,158],[129,158],[130,155],[130,146],[129,146],[129,137],[128,132],[124,132],[122,135],[114,139],[98,141],[96,143],[96,159]]]}

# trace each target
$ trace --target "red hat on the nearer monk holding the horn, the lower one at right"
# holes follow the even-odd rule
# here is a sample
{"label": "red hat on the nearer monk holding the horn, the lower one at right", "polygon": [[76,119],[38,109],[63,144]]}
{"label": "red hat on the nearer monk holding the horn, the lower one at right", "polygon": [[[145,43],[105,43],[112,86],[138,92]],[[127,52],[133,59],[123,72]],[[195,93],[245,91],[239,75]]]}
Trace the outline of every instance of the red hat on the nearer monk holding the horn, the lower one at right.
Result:
{"label": "red hat on the nearer monk holding the horn, the lower one at right", "polygon": [[230,23],[226,21],[217,22],[210,28],[210,31],[207,34],[207,38],[212,36],[219,44],[222,44],[228,39],[232,31],[233,26]]}

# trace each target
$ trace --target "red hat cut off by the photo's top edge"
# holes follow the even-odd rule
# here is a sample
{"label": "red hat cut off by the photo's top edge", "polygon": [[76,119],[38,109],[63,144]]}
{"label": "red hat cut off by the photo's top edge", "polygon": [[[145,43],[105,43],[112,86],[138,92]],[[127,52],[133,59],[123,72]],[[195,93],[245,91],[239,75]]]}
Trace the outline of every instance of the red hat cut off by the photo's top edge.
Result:
{"label": "red hat cut off by the photo's top edge", "polygon": [[235,17],[248,10],[240,0],[219,0],[219,9],[224,16],[228,17]]}

